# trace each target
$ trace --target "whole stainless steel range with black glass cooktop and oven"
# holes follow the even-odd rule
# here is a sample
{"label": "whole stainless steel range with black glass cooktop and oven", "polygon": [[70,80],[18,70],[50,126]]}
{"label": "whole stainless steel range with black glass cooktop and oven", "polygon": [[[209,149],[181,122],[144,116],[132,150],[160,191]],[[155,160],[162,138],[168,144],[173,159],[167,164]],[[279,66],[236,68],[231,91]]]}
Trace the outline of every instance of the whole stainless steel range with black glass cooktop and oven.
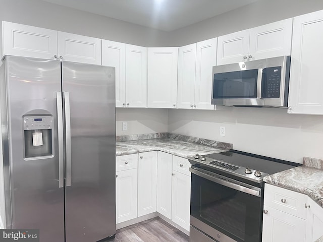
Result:
{"label": "whole stainless steel range with black glass cooktop and oven", "polygon": [[190,242],[259,242],[263,177],[301,164],[237,150],[189,158]]}

